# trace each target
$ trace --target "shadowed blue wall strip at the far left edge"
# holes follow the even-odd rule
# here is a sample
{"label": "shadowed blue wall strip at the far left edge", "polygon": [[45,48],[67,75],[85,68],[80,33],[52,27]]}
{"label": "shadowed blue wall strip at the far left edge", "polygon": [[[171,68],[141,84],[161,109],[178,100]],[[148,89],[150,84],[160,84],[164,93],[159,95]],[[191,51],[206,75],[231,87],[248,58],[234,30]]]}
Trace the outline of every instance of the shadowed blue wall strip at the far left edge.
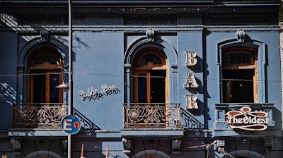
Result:
{"label": "shadowed blue wall strip at the far left edge", "polygon": [[12,104],[16,103],[17,34],[1,32],[0,41],[0,129],[8,129]]}

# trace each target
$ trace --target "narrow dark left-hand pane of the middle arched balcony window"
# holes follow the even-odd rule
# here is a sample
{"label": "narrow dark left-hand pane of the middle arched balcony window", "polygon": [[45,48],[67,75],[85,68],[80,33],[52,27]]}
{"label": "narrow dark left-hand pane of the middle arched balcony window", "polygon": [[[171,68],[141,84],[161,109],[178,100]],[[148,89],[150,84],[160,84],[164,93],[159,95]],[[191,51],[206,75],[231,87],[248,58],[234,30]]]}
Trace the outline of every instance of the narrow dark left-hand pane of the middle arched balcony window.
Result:
{"label": "narrow dark left-hand pane of the middle arched balcony window", "polygon": [[138,78],[137,78],[137,83],[138,83],[138,89],[137,89],[137,94],[138,94],[138,102],[139,103],[146,103],[146,73],[139,73]]}

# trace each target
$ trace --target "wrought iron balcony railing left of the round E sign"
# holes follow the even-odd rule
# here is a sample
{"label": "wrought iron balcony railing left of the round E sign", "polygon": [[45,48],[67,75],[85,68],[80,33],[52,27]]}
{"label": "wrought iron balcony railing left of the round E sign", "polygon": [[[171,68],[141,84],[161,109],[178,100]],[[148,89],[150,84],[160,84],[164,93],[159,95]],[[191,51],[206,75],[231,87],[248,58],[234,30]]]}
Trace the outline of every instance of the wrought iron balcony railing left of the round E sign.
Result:
{"label": "wrought iron balcony railing left of the round E sign", "polygon": [[61,128],[67,105],[13,104],[12,116],[12,128]]}

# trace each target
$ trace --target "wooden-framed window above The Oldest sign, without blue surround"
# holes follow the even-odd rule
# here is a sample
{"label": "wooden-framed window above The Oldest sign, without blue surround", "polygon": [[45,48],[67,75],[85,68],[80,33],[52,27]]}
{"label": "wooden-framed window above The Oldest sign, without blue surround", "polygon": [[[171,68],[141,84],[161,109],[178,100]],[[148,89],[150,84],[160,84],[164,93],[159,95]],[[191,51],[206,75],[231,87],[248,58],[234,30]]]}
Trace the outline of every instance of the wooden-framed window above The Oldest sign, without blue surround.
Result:
{"label": "wooden-framed window above The Oldest sign, without blue surround", "polygon": [[221,57],[223,102],[258,102],[257,49],[229,47]]}

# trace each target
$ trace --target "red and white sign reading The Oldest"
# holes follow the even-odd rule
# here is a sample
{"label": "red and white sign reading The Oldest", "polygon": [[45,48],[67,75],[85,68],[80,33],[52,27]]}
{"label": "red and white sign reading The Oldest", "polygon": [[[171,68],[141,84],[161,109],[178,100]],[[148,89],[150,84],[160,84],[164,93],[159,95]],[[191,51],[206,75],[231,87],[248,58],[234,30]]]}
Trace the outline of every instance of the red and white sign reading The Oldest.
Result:
{"label": "red and white sign reading The Oldest", "polygon": [[266,130],[268,114],[263,111],[252,111],[250,107],[232,110],[226,113],[226,121],[230,128],[242,130]]}

